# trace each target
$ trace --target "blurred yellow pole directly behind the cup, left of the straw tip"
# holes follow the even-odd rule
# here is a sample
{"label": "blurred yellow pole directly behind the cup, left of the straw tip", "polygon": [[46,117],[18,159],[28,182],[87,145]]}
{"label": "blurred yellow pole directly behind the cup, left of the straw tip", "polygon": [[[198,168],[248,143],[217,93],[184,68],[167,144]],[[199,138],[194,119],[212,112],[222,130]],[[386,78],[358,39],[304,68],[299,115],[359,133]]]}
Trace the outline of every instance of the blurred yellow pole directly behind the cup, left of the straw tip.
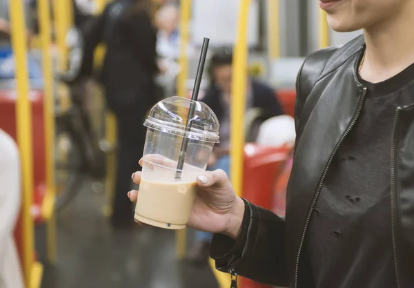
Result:
{"label": "blurred yellow pole directly behind the cup, left of the straw tip", "polygon": [[[187,47],[190,41],[190,17],[191,17],[191,0],[181,0],[179,11],[179,35],[180,35],[180,52],[179,52],[179,75],[177,79],[177,95],[187,97],[186,82],[188,79],[188,53]],[[187,233],[186,230],[178,230],[175,233],[175,249],[177,258],[186,257]]]}

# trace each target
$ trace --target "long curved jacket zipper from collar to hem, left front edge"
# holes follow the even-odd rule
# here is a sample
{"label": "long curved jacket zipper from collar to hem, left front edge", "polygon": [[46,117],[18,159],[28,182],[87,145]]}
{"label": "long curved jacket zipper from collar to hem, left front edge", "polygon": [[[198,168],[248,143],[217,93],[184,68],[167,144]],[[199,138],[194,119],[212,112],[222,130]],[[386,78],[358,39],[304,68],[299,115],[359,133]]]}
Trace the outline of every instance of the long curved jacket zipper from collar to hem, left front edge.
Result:
{"label": "long curved jacket zipper from collar to hem, left front edge", "polygon": [[353,128],[353,126],[355,126],[355,123],[357,122],[357,119],[358,119],[359,115],[361,114],[362,106],[364,104],[364,99],[366,97],[366,90],[367,90],[366,87],[362,88],[362,97],[359,100],[359,104],[358,104],[355,116],[353,117],[353,120],[351,121],[351,123],[346,128],[346,131],[342,135],[341,139],[339,139],[339,142],[335,146],[335,149],[333,150],[333,153],[331,154],[331,157],[329,157],[328,164],[326,164],[326,167],[324,169],[324,173],[322,173],[322,177],[319,180],[319,184],[317,186],[315,197],[313,198],[313,201],[312,201],[312,204],[311,204],[311,209],[309,210],[308,215],[306,216],[306,222],[305,222],[305,225],[304,225],[304,230],[302,231],[302,238],[301,238],[300,243],[299,243],[299,250],[297,251],[296,267],[295,267],[295,288],[297,288],[297,277],[298,277],[297,273],[298,273],[298,270],[299,270],[300,253],[301,253],[302,248],[304,246],[305,234],[306,234],[306,230],[308,229],[309,222],[311,220],[311,215],[313,213],[313,209],[315,208],[315,204],[316,204],[317,198],[319,197],[319,193],[321,193],[322,184],[323,184],[324,179],[326,177],[326,173],[328,173],[329,166],[331,166],[334,155],[337,153],[337,150],[338,150],[339,146],[342,144],[342,142],[344,141],[346,135],[348,135],[348,133]]}

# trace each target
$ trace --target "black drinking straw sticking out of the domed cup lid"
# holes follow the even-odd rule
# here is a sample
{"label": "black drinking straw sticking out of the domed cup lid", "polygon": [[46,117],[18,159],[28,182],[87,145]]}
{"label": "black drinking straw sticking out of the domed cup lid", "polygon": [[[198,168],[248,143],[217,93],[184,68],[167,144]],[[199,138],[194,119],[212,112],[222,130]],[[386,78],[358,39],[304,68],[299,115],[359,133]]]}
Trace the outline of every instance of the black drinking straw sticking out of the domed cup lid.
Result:
{"label": "black drinking straw sticking out of the domed cup lid", "polygon": [[[186,132],[189,132],[191,130],[191,120],[193,119],[194,113],[195,113],[195,102],[197,101],[197,98],[198,98],[201,78],[203,77],[203,70],[204,70],[204,64],[206,63],[209,41],[210,39],[204,38],[203,46],[201,48],[201,55],[199,59],[199,65],[197,68],[197,75],[195,75],[193,95],[191,95],[190,108],[188,109],[187,123],[186,123],[186,129],[185,129]],[[181,143],[181,149],[179,151],[179,158],[178,158],[178,164],[177,164],[177,171],[175,171],[175,179],[181,178],[181,173],[184,167],[184,160],[186,159],[188,141],[189,141],[188,137],[184,137],[183,142]]]}

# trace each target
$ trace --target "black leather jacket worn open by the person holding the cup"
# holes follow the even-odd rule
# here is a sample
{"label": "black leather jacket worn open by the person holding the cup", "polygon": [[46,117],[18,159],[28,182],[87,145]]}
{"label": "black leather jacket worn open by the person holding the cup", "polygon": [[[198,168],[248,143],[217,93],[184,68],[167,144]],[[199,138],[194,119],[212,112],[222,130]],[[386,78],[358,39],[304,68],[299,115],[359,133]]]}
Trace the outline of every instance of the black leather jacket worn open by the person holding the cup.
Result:
{"label": "black leather jacket worn open by the person holding the cup", "polygon": [[[276,286],[315,287],[303,253],[306,230],[333,155],[362,111],[366,88],[357,79],[357,66],[363,50],[364,38],[357,37],[304,61],[297,77],[297,140],[286,221],[247,203],[246,236],[235,245],[242,252],[232,249],[234,242],[224,236],[213,240],[212,257],[221,271],[235,269]],[[414,103],[397,108],[390,149],[394,287],[410,288],[414,285],[409,280],[414,271]]]}

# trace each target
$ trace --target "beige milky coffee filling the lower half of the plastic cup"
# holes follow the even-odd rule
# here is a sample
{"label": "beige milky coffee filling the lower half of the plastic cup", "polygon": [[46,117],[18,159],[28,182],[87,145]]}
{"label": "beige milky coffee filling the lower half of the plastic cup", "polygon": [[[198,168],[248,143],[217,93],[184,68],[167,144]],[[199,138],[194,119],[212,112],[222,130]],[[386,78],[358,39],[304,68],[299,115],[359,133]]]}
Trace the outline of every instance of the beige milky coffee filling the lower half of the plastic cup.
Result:
{"label": "beige milky coffee filling the lower half of the plastic cup", "polygon": [[144,174],[139,184],[135,220],[166,229],[186,228],[196,195],[195,181],[172,178],[171,182],[155,182],[152,177],[146,180]]}

